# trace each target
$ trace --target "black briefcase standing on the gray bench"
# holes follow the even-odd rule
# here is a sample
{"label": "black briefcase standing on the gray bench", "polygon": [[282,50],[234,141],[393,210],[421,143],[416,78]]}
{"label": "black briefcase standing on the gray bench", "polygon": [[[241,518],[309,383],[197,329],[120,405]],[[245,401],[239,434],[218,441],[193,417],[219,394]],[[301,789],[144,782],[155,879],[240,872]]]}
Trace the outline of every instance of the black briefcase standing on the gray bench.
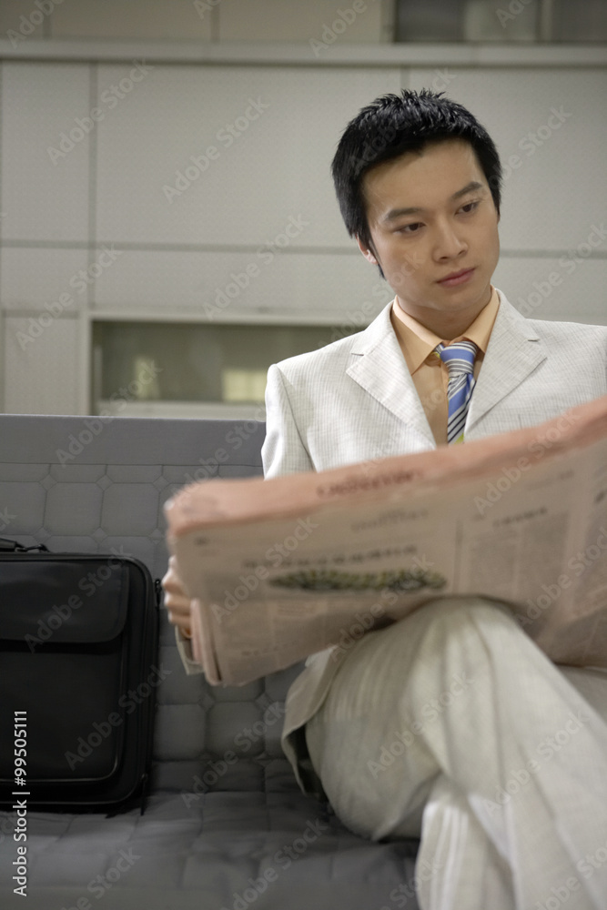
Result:
{"label": "black briefcase standing on the gray bench", "polygon": [[133,557],[0,540],[1,804],[143,811],[158,603]]}

